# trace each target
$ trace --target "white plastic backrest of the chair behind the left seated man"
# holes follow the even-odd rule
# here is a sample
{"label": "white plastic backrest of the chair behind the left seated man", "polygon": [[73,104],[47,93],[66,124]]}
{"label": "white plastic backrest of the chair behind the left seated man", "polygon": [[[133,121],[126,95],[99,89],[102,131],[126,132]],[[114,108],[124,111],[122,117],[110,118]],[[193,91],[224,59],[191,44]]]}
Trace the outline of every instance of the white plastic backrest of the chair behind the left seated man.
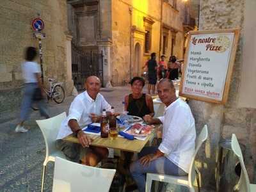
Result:
{"label": "white plastic backrest of the chair behind the left seated man", "polygon": [[52,118],[47,118],[45,120],[36,120],[36,123],[40,127],[42,134],[44,136],[44,141],[46,145],[46,157],[50,156],[53,152],[57,151],[56,148],[56,138],[61,126],[61,122],[67,117],[66,112],[60,115],[54,116]]}

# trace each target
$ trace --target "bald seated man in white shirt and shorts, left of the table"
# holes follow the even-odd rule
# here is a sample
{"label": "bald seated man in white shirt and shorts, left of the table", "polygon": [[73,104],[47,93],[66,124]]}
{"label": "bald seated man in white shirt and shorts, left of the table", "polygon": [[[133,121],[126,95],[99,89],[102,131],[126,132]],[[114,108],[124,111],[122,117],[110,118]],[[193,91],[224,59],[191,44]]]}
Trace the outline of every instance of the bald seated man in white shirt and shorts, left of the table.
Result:
{"label": "bald seated man in white shirt and shorts, left of the table", "polygon": [[[100,122],[103,109],[110,111],[111,106],[99,93],[100,79],[90,76],[85,82],[86,91],[77,95],[70,105],[67,118],[62,122],[56,139],[59,148],[70,161],[96,166],[101,159],[108,157],[108,148],[90,146],[92,138],[81,129],[92,122]],[[79,144],[63,141],[72,132]]]}

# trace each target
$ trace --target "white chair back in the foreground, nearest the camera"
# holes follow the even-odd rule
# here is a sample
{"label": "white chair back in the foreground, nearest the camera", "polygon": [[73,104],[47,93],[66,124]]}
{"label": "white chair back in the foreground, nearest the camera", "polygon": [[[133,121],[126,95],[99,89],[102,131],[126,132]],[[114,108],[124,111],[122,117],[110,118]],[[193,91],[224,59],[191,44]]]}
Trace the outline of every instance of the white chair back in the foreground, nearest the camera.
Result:
{"label": "white chair back in the foreground, nearest the camera", "polygon": [[52,192],[107,192],[115,172],[56,157]]}

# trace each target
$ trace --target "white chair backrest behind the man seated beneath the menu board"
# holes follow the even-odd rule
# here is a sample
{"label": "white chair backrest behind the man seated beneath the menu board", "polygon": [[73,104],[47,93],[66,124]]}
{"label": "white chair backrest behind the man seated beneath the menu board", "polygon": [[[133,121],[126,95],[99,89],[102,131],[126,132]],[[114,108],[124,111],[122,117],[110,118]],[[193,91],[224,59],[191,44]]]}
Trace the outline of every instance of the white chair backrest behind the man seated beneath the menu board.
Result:
{"label": "white chair backrest behind the man seated beneath the menu board", "polygon": [[196,179],[196,173],[195,173],[195,157],[199,150],[199,148],[202,146],[205,140],[208,138],[208,128],[207,125],[204,125],[202,131],[200,132],[198,138],[196,139],[196,149],[195,153],[193,154],[193,157],[191,159],[191,164],[189,167],[189,174],[188,174],[188,180],[189,180],[189,186],[190,188],[193,188],[193,181]]}

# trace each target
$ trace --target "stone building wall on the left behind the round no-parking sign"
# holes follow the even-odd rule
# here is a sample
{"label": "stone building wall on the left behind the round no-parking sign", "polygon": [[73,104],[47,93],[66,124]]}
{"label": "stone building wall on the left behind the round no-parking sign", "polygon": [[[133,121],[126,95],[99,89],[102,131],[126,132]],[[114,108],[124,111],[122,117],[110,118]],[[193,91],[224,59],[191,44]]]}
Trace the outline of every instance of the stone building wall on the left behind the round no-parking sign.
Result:
{"label": "stone building wall on the left behind the round no-parking sign", "polygon": [[31,28],[36,17],[45,24],[46,38],[42,40],[45,85],[48,77],[54,77],[64,82],[70,93],[71,63],[67,46],[71,38],[67,33],[66,1],[4,0],[0,3],[0,15],[0,112],[20,104],[23,84],[20,64],[24,61],[24,49],[38,47]]}

